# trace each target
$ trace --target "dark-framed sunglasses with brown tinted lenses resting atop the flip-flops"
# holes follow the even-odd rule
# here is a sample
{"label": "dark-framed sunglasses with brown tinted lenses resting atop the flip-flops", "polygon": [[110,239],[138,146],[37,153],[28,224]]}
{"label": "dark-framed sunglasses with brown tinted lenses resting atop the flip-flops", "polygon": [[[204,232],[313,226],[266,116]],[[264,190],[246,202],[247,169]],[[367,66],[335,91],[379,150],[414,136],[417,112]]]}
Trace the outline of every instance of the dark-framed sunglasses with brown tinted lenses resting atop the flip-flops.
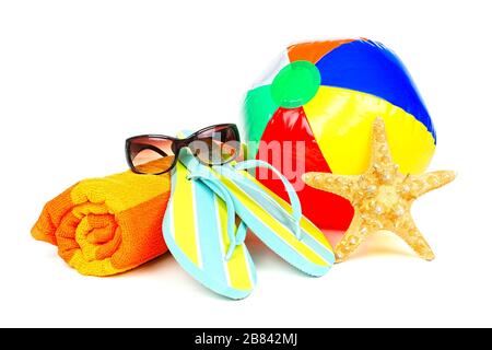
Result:
{"label": "dark-framed sunglasses with brown tinted lenses resting atop the flip-flops", "polygon": [[186,139],[141,135],[127,139],[125,150],[133,173],[160,175],[176,165],[183,148],[188,148],[203,164],[222,165],[239,154],[239,131],[234,124],[220,124],[198,130]]}

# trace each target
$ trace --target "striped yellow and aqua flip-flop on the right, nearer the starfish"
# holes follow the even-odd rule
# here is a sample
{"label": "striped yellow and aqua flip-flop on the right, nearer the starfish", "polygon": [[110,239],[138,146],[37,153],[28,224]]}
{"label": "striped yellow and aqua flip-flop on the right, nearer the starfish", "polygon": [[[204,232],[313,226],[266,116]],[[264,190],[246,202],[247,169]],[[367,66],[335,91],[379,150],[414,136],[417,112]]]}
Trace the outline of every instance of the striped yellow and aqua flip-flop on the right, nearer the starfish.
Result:
{"label": "striped yellow and aqua flip-flop on the right, nearer the starfish", "polygon": [[[186,135],[181,133],[181,137]],[[232,200],[229,207],[233,206],[233,211],[244,225],[292,266],[307,275],[319,277],[328,272],[335,264],[333,250],[323,232],[302,215],[294,188],[270,164],[262,161],[244,161],[210,167],[201,164],[187,149],[181,150],[179,162],[188,168],[188,178],[200,179],[202,184],[214,184],[208,187],[222,199],[229,197],[227,201]],[[276,173],[283,182],[291,203],[244,171],[254,167],[267,167]],[[225,196],[223,189],[215,190],[216,184],[225,187]],[[226,256],[231,256],[233,249],[234,245],[230,245]]]}

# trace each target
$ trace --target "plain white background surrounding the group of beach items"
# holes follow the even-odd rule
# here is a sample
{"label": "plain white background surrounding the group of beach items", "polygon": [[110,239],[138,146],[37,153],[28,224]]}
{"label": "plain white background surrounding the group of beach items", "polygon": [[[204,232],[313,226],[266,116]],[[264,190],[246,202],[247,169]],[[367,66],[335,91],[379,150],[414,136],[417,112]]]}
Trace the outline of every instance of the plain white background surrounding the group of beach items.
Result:
{"label": "plain white background surrounding the group of beach items", "polygon": [[[489,1],[1,1],[0,326],[492,326]],[[489,34],[488,34],[489,33]],[[238,120],[286,45],[364,36],[406,62],[458,179],[413,214],[436,259],[379,237],[327,276],[260,245],[246,300],[167,255],[87,278],[30,230],[74,182],[126,168],[124,140]]]}

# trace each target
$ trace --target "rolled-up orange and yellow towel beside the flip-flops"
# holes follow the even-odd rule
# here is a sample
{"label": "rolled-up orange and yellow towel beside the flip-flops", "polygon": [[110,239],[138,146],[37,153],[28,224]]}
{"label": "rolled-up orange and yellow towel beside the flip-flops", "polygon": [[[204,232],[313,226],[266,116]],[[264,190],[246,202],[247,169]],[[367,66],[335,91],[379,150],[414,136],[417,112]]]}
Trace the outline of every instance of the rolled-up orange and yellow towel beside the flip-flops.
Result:
{"label": "rolled-up orange and yellow towel beside the flip-flops", "polygon": [[82,275],[120,273],[167,252],[162,220],[169,191],[168,174],[85,179],[46,203],[32,234],[57,245]]}

